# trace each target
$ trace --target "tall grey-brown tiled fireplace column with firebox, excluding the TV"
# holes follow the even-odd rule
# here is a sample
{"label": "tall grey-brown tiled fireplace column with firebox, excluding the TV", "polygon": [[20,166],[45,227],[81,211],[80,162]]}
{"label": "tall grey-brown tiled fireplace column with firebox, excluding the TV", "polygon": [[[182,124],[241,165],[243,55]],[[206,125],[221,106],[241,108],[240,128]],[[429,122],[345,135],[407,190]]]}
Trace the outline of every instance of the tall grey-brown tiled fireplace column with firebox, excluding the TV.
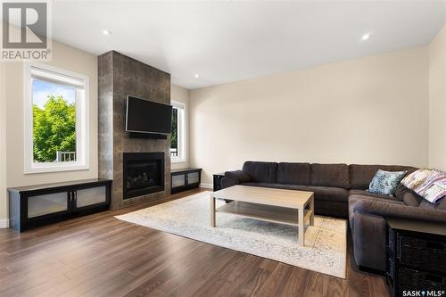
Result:
{"label": "tall grey-brown tiled fireplace column with firebox, excluding the TV", "polygon": [[113,180],[111,209],[163,199],[170,193],[170,142],[130,136],[125,115],[128,95],[169,104],[169,73],[111,51],[98,57],[98,77],[99,177]]}

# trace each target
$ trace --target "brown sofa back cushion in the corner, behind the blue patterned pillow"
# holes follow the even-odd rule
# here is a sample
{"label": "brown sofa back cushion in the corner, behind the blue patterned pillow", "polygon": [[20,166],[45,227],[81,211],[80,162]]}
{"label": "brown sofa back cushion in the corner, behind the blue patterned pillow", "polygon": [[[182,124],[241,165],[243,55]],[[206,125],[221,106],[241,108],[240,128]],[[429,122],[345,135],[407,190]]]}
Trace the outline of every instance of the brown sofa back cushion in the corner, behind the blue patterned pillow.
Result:
{"label": "brown sofa back cushion in the corner, behind the blue patterned pillow", "polygon": [[[416,170],[410,166],[398,166],[398,165],[349,165],[349,179],[351,189],[368,189],[368,185],[372,178],[375,176],[376,171],[383,169],[385,171],[408,171],[407,174]],[[401,198],[402,199],[402,196]]]}

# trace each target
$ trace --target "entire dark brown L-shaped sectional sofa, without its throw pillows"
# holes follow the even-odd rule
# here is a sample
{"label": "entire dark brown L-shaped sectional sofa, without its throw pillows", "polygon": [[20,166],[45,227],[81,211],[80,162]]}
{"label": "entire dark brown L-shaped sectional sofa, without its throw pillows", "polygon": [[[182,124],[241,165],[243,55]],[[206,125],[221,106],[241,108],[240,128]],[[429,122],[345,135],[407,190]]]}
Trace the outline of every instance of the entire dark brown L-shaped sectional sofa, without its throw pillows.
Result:
{"label": "entire dark brown L-shaped sectional sofa, without its throw pillows", "polygon": [[385,271],[384,218],[446,224],[446,199],[432,204],[402,184],[393,196],[368,193],[368,185],[378,169],[408,171],[408,174],[416,170],[410,166],[246,161],[242,170],[225,172],[221,186],[266,186],[314,192],[316,214],[349,219],[354,257],[359,267]]}

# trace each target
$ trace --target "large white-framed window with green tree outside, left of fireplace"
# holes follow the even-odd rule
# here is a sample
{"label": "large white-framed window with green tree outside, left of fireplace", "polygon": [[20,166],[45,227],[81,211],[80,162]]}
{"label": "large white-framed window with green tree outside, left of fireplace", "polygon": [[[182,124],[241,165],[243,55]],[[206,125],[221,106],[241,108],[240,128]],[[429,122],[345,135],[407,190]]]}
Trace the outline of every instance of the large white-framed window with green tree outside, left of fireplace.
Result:
{"label": "large white-framed window with green tree outside, left of fireplace", "polygon": [[25,173],[88,169],[88,78],[25,63]]}

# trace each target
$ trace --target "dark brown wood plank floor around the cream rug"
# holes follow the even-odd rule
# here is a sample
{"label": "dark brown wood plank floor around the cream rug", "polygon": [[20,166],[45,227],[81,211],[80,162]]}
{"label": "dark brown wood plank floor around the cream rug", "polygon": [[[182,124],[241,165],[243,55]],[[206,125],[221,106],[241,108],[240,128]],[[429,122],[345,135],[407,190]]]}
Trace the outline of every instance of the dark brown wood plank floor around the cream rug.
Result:
{"label": "dark brown wood plank floor around the cream rug", "polygon": [[0,229],[0,296],[388,295],[382,276],[354,266],[350,238],[340,279],[113,218],[150,205],[22,234]]}

